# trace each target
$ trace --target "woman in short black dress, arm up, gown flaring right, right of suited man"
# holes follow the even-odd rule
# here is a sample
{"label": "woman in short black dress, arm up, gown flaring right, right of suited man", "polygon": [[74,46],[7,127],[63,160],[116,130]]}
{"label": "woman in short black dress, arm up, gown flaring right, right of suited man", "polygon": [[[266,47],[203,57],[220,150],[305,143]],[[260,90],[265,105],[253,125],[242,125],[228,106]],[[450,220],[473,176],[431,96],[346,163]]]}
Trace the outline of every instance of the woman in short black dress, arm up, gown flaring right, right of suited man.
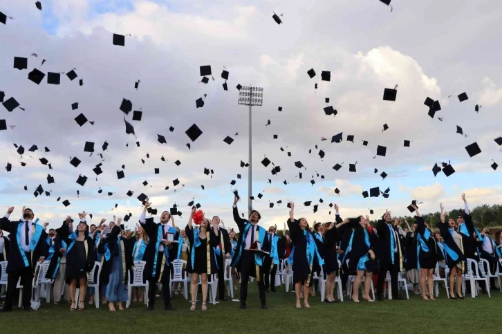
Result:
{"label": "woman in short black dress, arm up, gown flaring right, right of suited man", "polygon": [[[429,228],[429,224],[425,223],[424,219],[420,216],[416,205],[411,205],[415,209],[416,221],[416,243],[418,252],[418,266],[420,266],[420,289],[422,289],[422,299],[436,300],[433,295],[434,286],[434,269],[438,261],[443,261],[443,254],[436,245],[436,240]],[[427,279],[427,287],[429,288],[429,295],[427,297],[427,290],[425,289],[425,279]]]}

